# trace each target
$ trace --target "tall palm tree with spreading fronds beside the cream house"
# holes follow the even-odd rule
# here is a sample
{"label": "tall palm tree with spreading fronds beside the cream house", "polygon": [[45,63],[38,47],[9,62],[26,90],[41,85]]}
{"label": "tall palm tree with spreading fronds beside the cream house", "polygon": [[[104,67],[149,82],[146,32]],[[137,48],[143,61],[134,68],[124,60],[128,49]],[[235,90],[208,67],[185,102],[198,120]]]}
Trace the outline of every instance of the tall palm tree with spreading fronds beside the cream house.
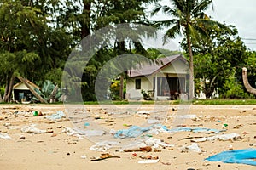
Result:
{"label": "tall palm tree with spreading fronds beside the cream house", "polygon": [[155,26],[169,28],[163,38],[164,42],[167,41],[167,38],[174,38],[182,33],[185,37],[189,51],[189,99],[193,99],[195,82],[192,40],[201,42],[202,37],[207,37],[207,28],[215,24],[219,25],[219,23],[210,20],[204,13],[212,4],[212,0],[171,0],[170,2],[172,6],[157,4],[152,15],[162,10],[164,14],[172,17],[172,20],[155,21]]}

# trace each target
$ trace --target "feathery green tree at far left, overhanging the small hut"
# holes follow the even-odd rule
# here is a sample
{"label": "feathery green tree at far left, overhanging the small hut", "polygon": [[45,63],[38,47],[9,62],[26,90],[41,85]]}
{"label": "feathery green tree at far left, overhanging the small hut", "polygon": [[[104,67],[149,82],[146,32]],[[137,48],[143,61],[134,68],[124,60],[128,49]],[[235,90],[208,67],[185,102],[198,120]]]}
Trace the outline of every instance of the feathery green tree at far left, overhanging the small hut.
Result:
{"label": "feathery green tree at far left, overhanging the small hut", "polygon": [[62,7],[63,1],[54,0],[1,1],[0,67],[4,72],[0,74],[0,84],[5,84],[5,101],[10,100],[17,76],[33,82],[45,77],[61,80],[56,73],[61,73],[73,44],[67,20],[59,19],[76,11],[72,8],[61,12]]}

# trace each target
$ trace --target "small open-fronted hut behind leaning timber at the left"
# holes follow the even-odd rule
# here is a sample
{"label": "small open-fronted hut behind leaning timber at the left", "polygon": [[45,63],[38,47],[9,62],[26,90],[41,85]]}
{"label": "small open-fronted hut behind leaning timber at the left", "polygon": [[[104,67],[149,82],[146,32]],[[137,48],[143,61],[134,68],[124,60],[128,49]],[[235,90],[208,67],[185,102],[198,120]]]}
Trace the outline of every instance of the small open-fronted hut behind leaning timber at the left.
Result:
{"label": "small open-fronted hut behind leaning timber at the left", "polygon": [[[26,82],[29,84],[31,88],[37,88],[40,89],[36,84],[33,82],[30,82],[26,80]],[[29,88],[26,87],[26,85],[22,82],[18,82],[14,85],[13,88],[13,100],[19,101],[19,102],[29,102],[32,100],[32,92],[29,90]]]}

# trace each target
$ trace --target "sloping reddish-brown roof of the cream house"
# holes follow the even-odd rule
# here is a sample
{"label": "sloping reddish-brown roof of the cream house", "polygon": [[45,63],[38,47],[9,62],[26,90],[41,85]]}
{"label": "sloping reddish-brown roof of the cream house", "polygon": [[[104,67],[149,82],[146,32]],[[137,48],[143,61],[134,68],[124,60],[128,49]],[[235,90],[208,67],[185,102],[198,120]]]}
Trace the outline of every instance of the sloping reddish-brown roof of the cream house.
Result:
{"label": "sloping reddish-brown roof of the cream house", "polygon": [[176,54],[176,55],[168,56],[165,58],[155,59],[152,64],[145,63],[145,64],[142,64],[141,66],[137,65],[136,69],[132,69],[131,71],[128,71],[128,76],[142,77],[142,76],[152,75],[155,72],[158,72],[164,67],[166,67],[166,65],[171,64],[173,61],[177,59],[182,60],[183,63],[187,62],[187,60],[181,54]]}

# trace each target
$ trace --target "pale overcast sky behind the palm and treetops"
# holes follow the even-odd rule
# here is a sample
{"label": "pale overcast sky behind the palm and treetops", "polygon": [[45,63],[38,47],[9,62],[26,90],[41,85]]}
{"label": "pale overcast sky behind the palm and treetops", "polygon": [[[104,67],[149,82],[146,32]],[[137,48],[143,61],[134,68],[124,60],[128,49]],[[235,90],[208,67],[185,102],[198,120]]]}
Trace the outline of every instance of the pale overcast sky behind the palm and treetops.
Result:
{"label": "pale overcast sky behind the palm and treetops", "polygon": [[[170,4],[170,0],[162,0],[161,4]],[[206,14],[212,20],[236,26],[238,35],[248,49],[256,50],[256,0],[213,0],[213,10],[208,8]],[[157,14],[152,20],[166,20],[164,14]],[[170,19],[170,18],[169,18]],[[173,40],[181,41],[182,37]],[[180,49],[178,49],[180,50]]]}

